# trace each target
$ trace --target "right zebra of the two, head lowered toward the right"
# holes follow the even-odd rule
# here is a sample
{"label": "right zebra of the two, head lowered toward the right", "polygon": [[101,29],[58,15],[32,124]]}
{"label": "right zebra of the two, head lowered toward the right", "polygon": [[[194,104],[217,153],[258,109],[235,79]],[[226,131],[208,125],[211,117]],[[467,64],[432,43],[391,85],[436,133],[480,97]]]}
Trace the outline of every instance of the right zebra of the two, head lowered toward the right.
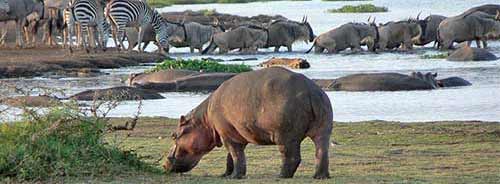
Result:
{"label": "right zebra of the two, head lowered toward the right", "polygon": [[[138,28],[139,51],[144,52],[141,47],[144,30],[148,25],[153,26],[156,33],[156,40],[161,48],[168,47],[167,24],[164,23],[161,15],[150,8],[146,2],[137,0],[111,0],[106,5],[106,17],[113,28],[113,39],[115,43],[119,42],[118,47],[125,48],[123,45],[123,33],[125,27]],[[117,35],[119,39],[117,39]],[[160,53],[163,49],[159,48]]]}

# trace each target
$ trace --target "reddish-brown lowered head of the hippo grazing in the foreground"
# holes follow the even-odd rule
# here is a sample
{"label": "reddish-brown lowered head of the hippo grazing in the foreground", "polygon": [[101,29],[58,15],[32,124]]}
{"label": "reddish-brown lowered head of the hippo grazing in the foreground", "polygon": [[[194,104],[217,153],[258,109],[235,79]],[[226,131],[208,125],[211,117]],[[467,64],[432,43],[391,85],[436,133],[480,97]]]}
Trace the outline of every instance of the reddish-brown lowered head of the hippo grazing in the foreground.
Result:
{"label": "reddish-brown lowered head of the hippo grazing in the foreground", "polygon": [[214,147],[222,146],[219,135],[202,119],[181,116],[172,134],[175,145],[170,149],[163,168],[167,172],[188,172]]}

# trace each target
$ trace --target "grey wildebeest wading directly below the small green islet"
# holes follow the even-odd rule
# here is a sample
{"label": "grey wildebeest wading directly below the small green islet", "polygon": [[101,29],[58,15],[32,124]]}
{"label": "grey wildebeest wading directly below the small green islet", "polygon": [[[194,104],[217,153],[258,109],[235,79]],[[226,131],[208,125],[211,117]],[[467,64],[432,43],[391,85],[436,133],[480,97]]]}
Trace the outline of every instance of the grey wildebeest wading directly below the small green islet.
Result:
{"label": "grey wildebeest wading directly below the small green islet", "polygon": [[315,53],[322,53],[324,50],[336,53],[347,48],[357,51],[361,50],[363,44],[368,45],[368,50],[373,51],[378,39],[378,29],[374,23],[347,23],[316,37],[307,53],[313,48]]}

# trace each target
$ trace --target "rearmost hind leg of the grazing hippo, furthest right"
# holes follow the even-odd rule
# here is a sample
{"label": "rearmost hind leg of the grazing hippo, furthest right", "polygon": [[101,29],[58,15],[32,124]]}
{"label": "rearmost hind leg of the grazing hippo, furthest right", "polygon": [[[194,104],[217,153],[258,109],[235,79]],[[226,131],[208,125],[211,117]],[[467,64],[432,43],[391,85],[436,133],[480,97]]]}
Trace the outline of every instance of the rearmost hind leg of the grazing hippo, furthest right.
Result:
{"label": "rearmost hind leg of the grazing hippo, furthest right", "polygon": [[311,138],[316,147],[316,171],[315,179],[326,179],[330,177],[328,171],[328,147],[330,146],[329,136],[316,136]]}

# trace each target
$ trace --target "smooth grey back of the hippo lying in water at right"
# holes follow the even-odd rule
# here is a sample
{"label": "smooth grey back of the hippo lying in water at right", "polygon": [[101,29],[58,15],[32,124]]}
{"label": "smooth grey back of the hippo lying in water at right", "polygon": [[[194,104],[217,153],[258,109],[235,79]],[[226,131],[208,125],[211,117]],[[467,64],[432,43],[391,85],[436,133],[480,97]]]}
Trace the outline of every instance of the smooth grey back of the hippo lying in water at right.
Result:
{"label": "smooth grey back of the hippo lying in water at right", "polygon": [[338,91],[408,91],[433,87],[421,80],[398,73],[354,74],[338,78],[332,84]]}

